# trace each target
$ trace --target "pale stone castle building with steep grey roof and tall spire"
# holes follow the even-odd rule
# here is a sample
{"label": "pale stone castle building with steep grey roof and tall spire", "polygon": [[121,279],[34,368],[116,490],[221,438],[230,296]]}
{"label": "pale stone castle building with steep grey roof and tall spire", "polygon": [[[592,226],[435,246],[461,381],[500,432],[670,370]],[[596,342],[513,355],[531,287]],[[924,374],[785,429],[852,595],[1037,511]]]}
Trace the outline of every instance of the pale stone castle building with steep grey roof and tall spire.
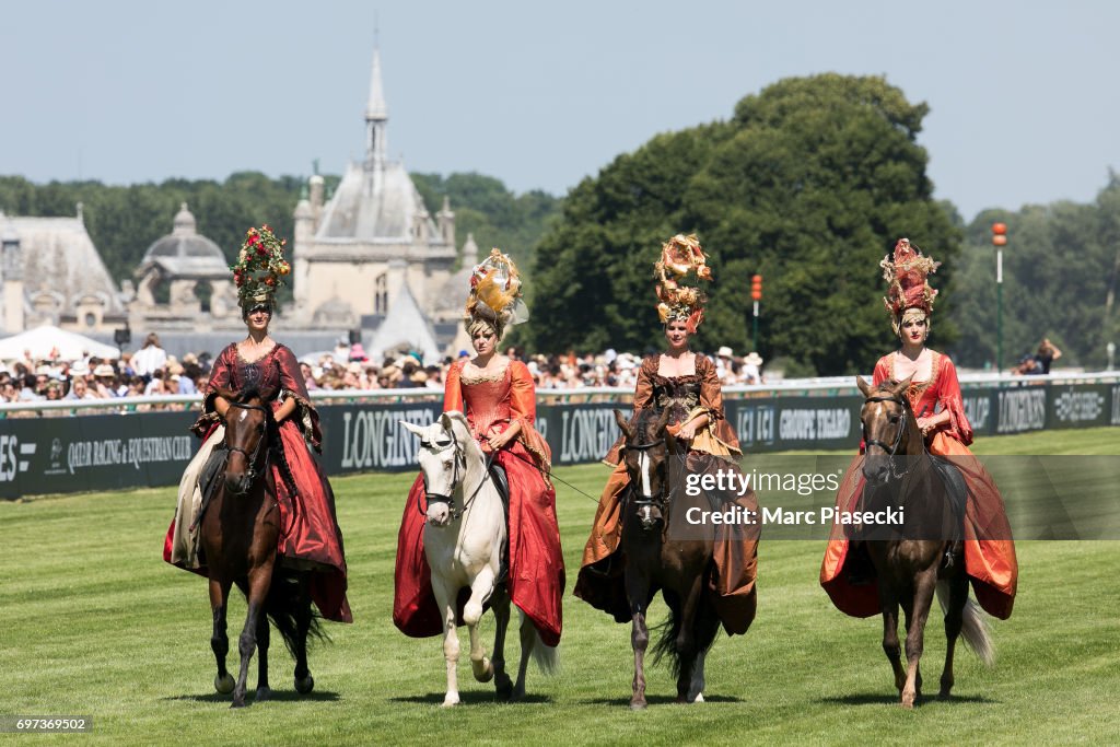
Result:
{"label": "pale stone castle building with steep grey roof and tall spire", "polygon": [[377,339],[386,340],[391,330],[379,328],[393,305],[407,304],[447,346],[467,296],[466,284],[457,289],[450,318],[447,284],[463,259],[455,246],[455,214],[446,199],[435,216],[428,213],[404,165],[388,156],[388,124],[381,54],[374,49],[365,158],[346,167],[328,199],[323,177],[310,177],[307,196],[296,206],[291,319],[307,327],[377,330]]}

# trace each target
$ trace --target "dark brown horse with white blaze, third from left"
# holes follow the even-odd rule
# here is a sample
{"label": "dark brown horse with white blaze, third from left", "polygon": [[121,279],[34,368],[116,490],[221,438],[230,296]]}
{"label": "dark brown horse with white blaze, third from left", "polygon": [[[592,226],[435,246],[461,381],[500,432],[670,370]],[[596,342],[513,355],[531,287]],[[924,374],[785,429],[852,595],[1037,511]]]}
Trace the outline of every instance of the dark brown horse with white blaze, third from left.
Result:
{"label": "dark brown horse with white blaze, third from left", "polygon": [[[683,463],[684,457],[666,430],[668,409],[660,417],[654,410],[642,410],[631,423],[615,410],[615,422],[625,439],[623,459],[629,476],[622,496],[622,549],[626,558],[626,601],[633,620],[631,708],[646,707],[645,652],[650,644],[646,614],[659,590],[669,606],[670,618],[655,644],[655,657],[670,656],[676,678],[676,702],[700,703],[704,659],[720,625],[708,583],[715,539],[673,539],[668,530],[670,523],[680,526],[680,517],[689,508],[710,511],[711,505],[703,494],[690,497],[679,485],[670,484],[670,459]],[[674,515],[678,515],[675,522]]]}

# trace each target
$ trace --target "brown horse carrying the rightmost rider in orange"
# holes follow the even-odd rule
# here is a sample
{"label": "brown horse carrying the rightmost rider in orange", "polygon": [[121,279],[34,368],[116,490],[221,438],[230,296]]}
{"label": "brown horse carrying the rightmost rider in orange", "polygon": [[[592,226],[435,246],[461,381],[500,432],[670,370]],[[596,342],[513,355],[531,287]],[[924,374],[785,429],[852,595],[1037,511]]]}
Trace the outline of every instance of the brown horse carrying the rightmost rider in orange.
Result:
{"label": "brown horse carrying the rightmost rider in orange", "polygon": [[[913,375],[872,387],[857,377],[866,398],[861,511],[902,508],[905,524],[895,539],[868,539],[864,544],[878,581],[883,614],[883,651],[890,662],[902,706],[913,708],[922,693],[918,660],[934,590],[944,611],[945,666],[941,698],[953,687],[953,651],[958,636],[986,663],[993,647],[979,605],[969,599],[964,568],[964,502],[967,487],[955,466],[930,455],[906,391]],[[868,536],[879,534],[870,530]],[[900,660],[898,606],[906,615],[906,669]]]}

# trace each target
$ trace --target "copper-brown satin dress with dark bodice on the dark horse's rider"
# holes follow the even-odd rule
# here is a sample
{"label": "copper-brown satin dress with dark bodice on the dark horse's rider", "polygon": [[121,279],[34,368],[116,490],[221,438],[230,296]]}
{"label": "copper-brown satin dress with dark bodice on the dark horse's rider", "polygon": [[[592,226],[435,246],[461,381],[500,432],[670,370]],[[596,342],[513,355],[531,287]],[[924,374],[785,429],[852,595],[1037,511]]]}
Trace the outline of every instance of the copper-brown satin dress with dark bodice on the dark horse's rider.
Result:
{"label": "copper-brown satin dress with dark bodice on the dark horse's rider", "polygon": [[[741,454],[739,440],[724,418],[724,394],[716,364],[697,355],[694,374],[665,377],[657,373],[660,363],[660,355],[648,356],[642,362],[634,392],[634,411],[668,408],[670,430],[673,430],[684,422],[690,411],[696,412],[696,407],[703,409],[708,427],[698,431],[692,440],[684,469],[688,474],[713,473],[717,469],[738,471],[738,465],[731,459]],[[622,443],[619,438],[605,458],[615,469],[599,497],[573,594],[596,609],[608,613],[616,622],[626,623],[631,620],[631,611],[623,576],[625,559],[619,544],[623,532],[622,497],[629,485],[629,475],[625,461],[619,460]],[[744,495],[720,496],[720,499],[758,511],[754,491]],[[716,611],[728,634],[746,633],[757,607],[758,533],[755,529],[737,530],[719,525],[712,552],[715,568],[709,588],[713,594]]]}

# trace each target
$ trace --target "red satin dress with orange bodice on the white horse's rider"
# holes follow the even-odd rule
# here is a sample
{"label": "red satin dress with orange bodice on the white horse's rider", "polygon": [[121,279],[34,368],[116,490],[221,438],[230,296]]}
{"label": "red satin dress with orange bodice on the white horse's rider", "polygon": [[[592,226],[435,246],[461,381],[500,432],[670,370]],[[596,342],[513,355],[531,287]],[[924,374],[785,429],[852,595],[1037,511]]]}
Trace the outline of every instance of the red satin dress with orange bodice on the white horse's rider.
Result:
{"label": "red satin dress with orange bodice on the white horse's rider", "polygon": [[[521,423],[517,438],[498,450],[495,463],[505,468],[510,483],[508,573],[510,596],[550,646],[560,642],[563,624],[561,597],[564,587],[563,553],[557,523],[556,492],[547,478],[552,458],[548,443],[533,427],[536,396],[533,377],[520,361],[511,361],[494,377],[472,376],[466,362],[447,374],[444,411],[467,417],[475,438],[502,433]],[[409,491],[396,538],[393,623],[414,637],[444,632],[442,616],[431,590],[431,569],[423,552],[424,516],[417,506],[423,498],[423,478]],[[463,599],[460,598],[460,613]]]}

